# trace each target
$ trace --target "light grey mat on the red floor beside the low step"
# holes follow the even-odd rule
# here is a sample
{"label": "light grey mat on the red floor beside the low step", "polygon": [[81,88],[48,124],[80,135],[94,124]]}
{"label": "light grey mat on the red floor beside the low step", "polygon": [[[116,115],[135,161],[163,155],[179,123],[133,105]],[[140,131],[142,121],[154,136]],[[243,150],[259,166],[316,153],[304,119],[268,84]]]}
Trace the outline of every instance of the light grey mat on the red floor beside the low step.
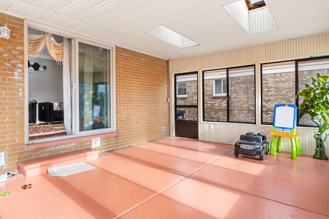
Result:
{"label": "light grey mat on the red floor beside the low step", "polygon": [[77,164],[69,164],[58,167],[49,167],[48,173],[52,176],[67,176],[75,173],[80,173],[87,170],[95,169],[96,167],[85,162]]}

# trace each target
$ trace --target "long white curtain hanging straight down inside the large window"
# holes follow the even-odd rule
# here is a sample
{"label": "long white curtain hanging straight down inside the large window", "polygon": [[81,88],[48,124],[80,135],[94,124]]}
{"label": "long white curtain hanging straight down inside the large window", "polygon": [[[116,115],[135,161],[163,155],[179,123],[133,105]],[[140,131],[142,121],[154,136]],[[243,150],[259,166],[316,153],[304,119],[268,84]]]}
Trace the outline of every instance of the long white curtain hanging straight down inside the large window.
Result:
{"label": "long white curtain hanging straight down inside the large window", "polygon": [[63,38],[63,103],[64,103],[64,125],[66,134],[72,134],[71,129],[71,41]]}

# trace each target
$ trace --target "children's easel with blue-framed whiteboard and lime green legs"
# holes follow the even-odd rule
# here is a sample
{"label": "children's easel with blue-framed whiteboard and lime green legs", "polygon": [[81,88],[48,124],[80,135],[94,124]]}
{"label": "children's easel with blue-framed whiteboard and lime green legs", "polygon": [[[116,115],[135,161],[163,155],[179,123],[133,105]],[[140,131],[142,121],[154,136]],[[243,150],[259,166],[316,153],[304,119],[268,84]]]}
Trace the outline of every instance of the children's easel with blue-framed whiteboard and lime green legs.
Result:
{"label": "children's easel with blue-framed whiteboard and lime green legs", "polygon": [[[270,145],[270,155],[281,152],[281,137],[289,137],[291,144],[290,158],[296,159],[296,155],[302,155],[302,149],[296,132],[297,107],[292,104],[278,104],[274,107],[273,136]],[[277,141],[278,138],[278,141]]]}

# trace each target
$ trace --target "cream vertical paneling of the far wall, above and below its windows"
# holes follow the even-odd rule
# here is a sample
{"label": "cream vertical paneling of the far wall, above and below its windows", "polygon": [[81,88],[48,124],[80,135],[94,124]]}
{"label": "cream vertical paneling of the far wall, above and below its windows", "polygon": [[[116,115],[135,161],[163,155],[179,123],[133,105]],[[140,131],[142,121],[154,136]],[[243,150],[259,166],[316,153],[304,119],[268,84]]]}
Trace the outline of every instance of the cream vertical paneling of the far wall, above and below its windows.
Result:
{"label": "cream vertical paneling of the far wall, above and below its windows", "polygon": [[[329,54],[329,33],[308,36],[288,41],[275,42],[254,47],[223,51],[203,56],[173,59],[170,61],[170,72],[221,68],[250,63],[296,59],[312,55]],[[259,98],[259,97],[258,97]],[[200,106],[202,107],[202,106]],[[260,110],[258,110],[260,112]],[[259,116],[259,115],[257,115]],[[199,139],[205,141],[234,144],[241,134],[246,132],[264,131],[269,141],[272,140],[271,126],[229,124],[229,123],[199,123]],[[302,153],[314,154],[315,140],[313,128],[298,128]],[[324,143],[328,154],[328,143]],[[289,138],[282,139],[282,150],[290,151]]]}

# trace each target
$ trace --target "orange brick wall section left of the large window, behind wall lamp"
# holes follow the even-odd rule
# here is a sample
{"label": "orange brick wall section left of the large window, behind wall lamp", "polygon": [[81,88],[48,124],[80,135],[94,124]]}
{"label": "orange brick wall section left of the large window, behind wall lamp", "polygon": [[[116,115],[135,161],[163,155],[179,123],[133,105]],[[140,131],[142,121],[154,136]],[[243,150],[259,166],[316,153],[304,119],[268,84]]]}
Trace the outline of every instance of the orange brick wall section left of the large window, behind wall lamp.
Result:
{"label": "orange brick wall section left of the large window, behind wall lamp", "polygon": [[24,24],[23,19],[0,14],[0,26],[8,25],[10,38],[0,38],[0,152],[7,163],[0,172],[16,169],[24,157]]}

